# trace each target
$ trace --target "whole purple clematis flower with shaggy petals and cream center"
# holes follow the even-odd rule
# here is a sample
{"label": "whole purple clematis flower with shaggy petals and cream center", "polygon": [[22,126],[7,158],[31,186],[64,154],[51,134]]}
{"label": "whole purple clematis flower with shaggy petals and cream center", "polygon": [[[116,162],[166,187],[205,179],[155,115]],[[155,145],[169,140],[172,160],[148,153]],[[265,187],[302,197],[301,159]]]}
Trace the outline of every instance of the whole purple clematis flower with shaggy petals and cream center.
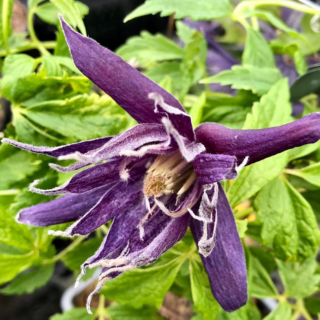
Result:
{"label": "whole purple clematis flower with shaggy petals and cream center", "polygon": [[[148,265],[182,239],[190,226],[214,297],[226,311],[247,301],[243,247],[220,180],[234,179],[244,166],[320,138],[320,114],[260,130],[233,130],[216,123],[195,131],[190,116],[170,93],[94,40],[61,25],[72,58],[93,83],[140,124],[114,137],[31,152],[75,159],[60,171],[92,165],[60,187],[30,190],[64,194],[23,209],[17,220],[36,226],[76,221],[60,236],[87,235],[113,219],[100,248],[82,265],[102,266],[96,289],[126,270]],[[106,160],[108,160],[106,162]]]}

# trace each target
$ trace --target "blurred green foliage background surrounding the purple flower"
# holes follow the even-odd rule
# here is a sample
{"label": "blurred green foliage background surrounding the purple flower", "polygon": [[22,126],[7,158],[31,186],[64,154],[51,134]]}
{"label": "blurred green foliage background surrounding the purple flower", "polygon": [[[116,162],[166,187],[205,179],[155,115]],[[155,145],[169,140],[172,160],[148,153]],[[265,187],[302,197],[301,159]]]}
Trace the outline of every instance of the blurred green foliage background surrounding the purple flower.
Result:
{"label": "blurred green foliage background surrounding the purple flower", "polygon": [[[75,67],[58,13],[174,94],[194,126],[259,129],[319,111],[320,12],[298,1],[0,0],[0,7],[2,137],[58,146],[135,124]],[[267,158],[224,183],[246,253],[250,298],[243,308],[220,308],[187,234],[155,264],[107,282],[93,316],[81,308],[86,290],[68,311],[58,301],[108,224],[70,241],[16,223],[20,209],[53,198],[29,192],[33,180],[52,188],[70,173],[50,169],[55,159],[0,145],[1,318],[316,319],[319,145]],[[94,281],[93,272],[85,279]]]}

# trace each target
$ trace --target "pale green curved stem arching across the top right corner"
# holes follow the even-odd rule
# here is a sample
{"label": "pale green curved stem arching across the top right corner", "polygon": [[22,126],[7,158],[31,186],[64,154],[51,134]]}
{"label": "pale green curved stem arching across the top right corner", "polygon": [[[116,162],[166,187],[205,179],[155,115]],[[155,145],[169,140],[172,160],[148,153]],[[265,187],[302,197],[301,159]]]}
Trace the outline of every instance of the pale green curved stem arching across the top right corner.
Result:
{"label": "pale green curved stem arching across the top right corner", "polygon": [[315,8],[311,8],[308,5],[305,4],[299,4],[292,0],[247,0],[240,2],[235,10],[233,11],[233,16],[236,20],[239,20],[241,17],[241,12],[246,9],[254,9],[255,7],[262,7],[262,6],[268,6],[268,5],[275,5],[275,6],[281,6],[281,7],[287,7],[291,8],[293,10],[297,10],[300,12],[305,12],[309,14],[319,14],[320,11],[316,10]]}

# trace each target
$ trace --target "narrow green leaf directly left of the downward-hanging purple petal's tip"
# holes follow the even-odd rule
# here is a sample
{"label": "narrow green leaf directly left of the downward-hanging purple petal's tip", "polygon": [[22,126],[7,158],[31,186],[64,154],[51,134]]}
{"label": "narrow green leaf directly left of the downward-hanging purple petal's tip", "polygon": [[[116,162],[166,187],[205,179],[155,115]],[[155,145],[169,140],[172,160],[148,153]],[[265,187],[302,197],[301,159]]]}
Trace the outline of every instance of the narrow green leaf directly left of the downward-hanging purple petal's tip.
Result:
{"label": "narrow green leaf directly left of the downward-hanging purple petal's tip", "polygon": [[220,306],[212,295],[209,279],[201,260],[190,260],[189,270],[192,300],[196,309],[203,315],[204,320],[215,319]]}

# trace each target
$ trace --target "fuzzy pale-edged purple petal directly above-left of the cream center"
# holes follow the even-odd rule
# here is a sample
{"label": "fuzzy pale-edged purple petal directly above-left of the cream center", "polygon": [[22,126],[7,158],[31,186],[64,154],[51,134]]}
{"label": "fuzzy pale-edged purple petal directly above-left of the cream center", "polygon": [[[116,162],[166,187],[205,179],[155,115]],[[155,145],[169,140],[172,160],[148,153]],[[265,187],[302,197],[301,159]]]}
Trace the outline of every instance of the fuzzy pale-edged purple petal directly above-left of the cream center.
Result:
{"label": "fuzzy pale-edged purple petal directly above-left of the cream center", "polygon": [[152,152],[152,149],[160,148],[170,151],[167,146],[168,134],[161,124],[138,124],[125,132],[114,136],[102,147],[87,153],[75,152],[60,159],[76,159],[87,163],[98,163],[118,156],[143,156]]}

